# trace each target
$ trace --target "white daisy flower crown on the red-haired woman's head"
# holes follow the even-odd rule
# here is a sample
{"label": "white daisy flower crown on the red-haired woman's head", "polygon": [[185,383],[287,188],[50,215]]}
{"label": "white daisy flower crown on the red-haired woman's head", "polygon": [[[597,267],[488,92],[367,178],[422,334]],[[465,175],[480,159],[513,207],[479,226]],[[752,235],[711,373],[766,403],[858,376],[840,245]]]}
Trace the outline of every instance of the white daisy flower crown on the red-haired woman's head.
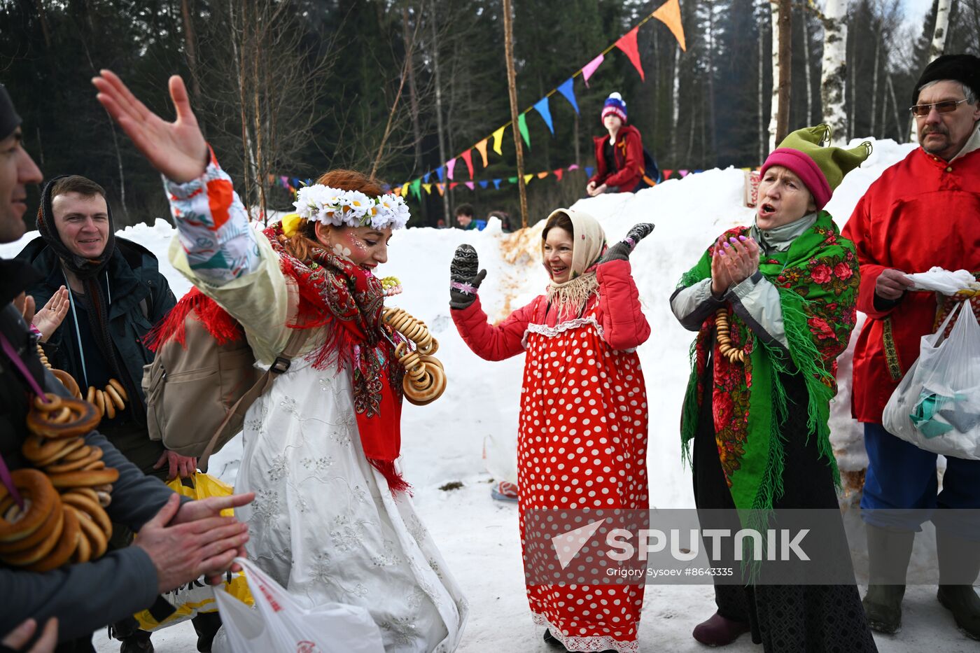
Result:
{"label": "white daisy flower crown on the red-haired woman's head", "polygon": [[398,195],[368,197],[360,190],[341,190],[321,183],[300,188],[293,206],[300,218],[332,226],[400,229],[412,217],[405,200]]}

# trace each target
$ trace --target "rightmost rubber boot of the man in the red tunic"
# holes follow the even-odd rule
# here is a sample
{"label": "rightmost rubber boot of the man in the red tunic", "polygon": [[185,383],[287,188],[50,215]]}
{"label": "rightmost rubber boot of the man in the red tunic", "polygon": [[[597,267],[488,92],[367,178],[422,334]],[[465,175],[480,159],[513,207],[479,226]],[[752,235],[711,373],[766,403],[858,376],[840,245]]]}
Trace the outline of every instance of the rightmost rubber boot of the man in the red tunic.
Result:
{"label": "rightmost rubber boot of the man in the red tunic", "polygon": [[939,591],[936,598],[953,613],[956,628],[971,639],[980,639],[980,597],[973,582],[980,574],[980,542],[961,539],[936,528],[939,555]]}

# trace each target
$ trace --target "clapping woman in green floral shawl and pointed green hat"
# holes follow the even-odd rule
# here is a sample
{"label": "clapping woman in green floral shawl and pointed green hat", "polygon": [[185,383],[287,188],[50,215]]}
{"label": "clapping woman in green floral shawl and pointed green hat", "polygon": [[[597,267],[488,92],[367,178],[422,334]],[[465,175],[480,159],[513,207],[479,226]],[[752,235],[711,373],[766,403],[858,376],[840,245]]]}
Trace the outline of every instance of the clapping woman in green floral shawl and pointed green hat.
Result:
{"label": "clapping woman in green floral shawl and pointed green hat", "polygon": [[[699,510],[838,509],[827,421],[855,326],[858,256],[822,209],[871,147],[821,147],[829,138],[824,125],[786,137],[760,170],[755,225],[725,231],[670,298],[698,331],[681,437]],[[848,551],[838,525],[829,535]],[[714,596],[717,612],[694,629],[704,644],[751,628],[765,653],[877,650],[854,584],[715,583]]]}

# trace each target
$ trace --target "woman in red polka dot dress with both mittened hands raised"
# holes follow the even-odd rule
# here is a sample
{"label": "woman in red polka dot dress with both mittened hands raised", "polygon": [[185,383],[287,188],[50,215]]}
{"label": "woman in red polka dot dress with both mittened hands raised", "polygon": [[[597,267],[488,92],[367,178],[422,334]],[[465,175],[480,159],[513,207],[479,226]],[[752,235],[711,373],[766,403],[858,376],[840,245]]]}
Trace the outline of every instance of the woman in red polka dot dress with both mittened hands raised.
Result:
{"label": "woman in red polka dot dress with both mittened hands raised", "polygon": [[[647,510],[647,395],[636,347],[650,335],[629,254],[653,230],[634,226],[606,246],[602,226],[571,209],[542,231],[547,294],[490,326],[476,290],[476,252],[456,251],[453,321],[481,358],[527,352],[520,395],[517,477],[524,567],[531,510]],[[532,584],[527,598],[545,640],[569,651],[637,651],[642,584]]]}

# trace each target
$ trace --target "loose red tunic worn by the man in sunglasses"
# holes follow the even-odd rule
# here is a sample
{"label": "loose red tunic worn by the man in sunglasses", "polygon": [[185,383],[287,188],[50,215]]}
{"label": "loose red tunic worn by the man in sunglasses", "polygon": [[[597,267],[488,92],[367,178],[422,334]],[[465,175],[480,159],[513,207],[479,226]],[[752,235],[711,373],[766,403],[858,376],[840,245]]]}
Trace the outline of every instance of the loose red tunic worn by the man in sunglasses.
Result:
{"label": "loose red tunic worn by the man in sunglasses", "polygon": [[[881,424],[889,397],[918,358],[919,338],[936,328],[937,307],[934,293],[913,291],[879,310],[875,282],[887,268],[980,271],[980,150],[952,162],[912,151],[871,184],[843,234],[858,248],[858,311],[868,317],[855,348],[851,410],[859,422]],[[889,339],[894,347],[886,346]],[[897,354],[892,370],[888,349]]]}

